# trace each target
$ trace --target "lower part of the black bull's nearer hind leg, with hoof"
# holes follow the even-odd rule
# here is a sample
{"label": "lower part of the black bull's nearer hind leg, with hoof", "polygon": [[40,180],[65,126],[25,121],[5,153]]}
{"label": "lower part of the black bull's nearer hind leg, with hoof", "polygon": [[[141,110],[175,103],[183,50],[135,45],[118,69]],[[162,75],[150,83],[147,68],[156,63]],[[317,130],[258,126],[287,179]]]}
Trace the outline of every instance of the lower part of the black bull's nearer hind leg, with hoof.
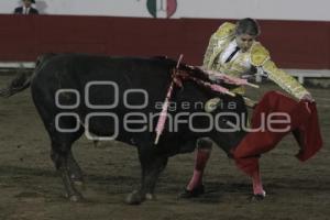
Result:
{"label": "lower part of the black bull's nearer hind leg, with hoof", "polygon": [[55,164],[56,169],[59,172],[62,176],[67,197],[72,201],[78,201],[82,199],[82,196],[75,188],[75,185],[70,178],[70,173],[68,169],[69,151],[70,151],[70,145],[53,142],[51,157]]}

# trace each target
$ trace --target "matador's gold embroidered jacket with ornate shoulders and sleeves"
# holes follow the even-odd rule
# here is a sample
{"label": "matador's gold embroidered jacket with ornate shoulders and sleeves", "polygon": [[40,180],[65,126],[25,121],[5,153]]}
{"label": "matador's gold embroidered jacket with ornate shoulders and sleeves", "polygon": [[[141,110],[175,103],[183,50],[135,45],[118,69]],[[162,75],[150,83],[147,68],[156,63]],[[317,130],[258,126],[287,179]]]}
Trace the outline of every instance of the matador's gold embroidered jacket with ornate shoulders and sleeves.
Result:
{"label": "matador's gold embroidered jacket with ornate shoulders and sleeves", "polygon": [[[249,51],[238,53],[230,62],[221,63],[219,57],[233,42],[234,32],[235,24],[226,22],[212,34],[204,57],[204,68],[241,77],[255,67],[297,99],[308,94],[295,78],[276,67],[271,61],[268,51],[260,42],[254,42]],[[243,88],[237,88],[233,91],[244,94]]]}

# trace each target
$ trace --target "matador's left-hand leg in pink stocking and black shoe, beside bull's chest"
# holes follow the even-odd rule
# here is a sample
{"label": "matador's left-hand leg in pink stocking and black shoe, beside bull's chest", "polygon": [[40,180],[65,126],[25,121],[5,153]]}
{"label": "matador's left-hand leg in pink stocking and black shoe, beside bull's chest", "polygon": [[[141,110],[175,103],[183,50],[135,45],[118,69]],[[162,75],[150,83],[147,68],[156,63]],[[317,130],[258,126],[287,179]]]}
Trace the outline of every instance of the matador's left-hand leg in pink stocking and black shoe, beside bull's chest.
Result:
{"label": "matador's left-hand leg in pink stocking and black shoe, beside bull's chest", "polygon": [[212,142],[209,139],[204,138],[197,141],[193,177],[185,191],[179,195],[180,198],[198,197],[204,194],[202,175],[211,151]]}

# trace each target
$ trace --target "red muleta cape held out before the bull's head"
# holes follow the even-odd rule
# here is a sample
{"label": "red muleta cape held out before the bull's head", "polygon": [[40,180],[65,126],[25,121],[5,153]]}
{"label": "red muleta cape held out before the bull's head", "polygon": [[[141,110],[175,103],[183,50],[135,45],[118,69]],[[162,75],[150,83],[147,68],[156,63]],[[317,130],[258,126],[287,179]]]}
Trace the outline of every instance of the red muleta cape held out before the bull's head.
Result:
{"label": "red muleta cape held out before the bull's head", "polygon": [[[250,132],[240,142],[233,152],[237,166],[252,176],[258,170],[260,154],[271,151],[289,132],[293,132],[300,151],[296,155],[301,162],[310,158],[322,146],[322,138],[318,122],[318,113],[315,102],[299,101],[277,91],[265,94],[253,111],[251,128],[261,128],[263,119],[267,119],[274,112],[285,112],[289,116],[289,123],[276,123],[272,125],[276,131],[265,128],[264,131]],[[273,119],[276,119],[276,116]],[[277,117],[282,120],[283,117]],[[278,132],[278,129],[288,128]]]}

